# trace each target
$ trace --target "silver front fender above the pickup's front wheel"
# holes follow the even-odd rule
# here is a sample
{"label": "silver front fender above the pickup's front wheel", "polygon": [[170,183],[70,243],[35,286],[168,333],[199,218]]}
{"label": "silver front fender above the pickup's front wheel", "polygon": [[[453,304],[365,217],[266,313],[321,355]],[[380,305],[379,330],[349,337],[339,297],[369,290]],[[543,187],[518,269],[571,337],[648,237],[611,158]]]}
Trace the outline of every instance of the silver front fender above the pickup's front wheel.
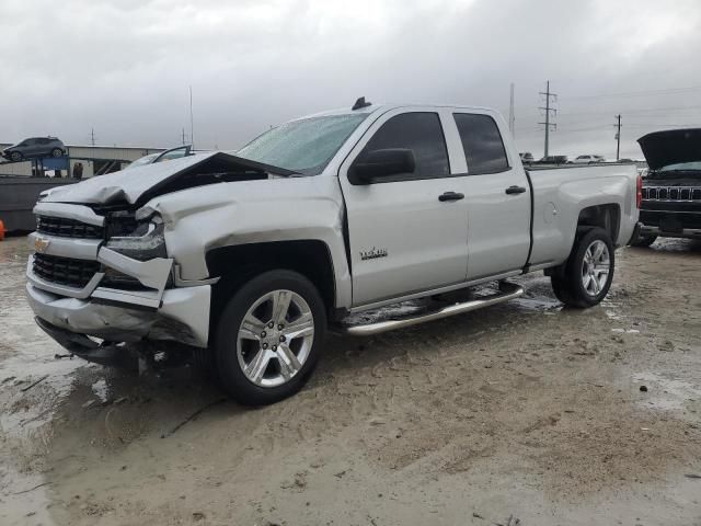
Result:
{"label": "silver front fender above the pickup's front wheel", "polygon": [[333,176],[276,178],[212,184],[163,195],[148,206],[165,222],[169,258],[183,279],[210,276],[206,254],[249,243],[319,240],[334,268],[336,307],[350,306],[345,207]]}

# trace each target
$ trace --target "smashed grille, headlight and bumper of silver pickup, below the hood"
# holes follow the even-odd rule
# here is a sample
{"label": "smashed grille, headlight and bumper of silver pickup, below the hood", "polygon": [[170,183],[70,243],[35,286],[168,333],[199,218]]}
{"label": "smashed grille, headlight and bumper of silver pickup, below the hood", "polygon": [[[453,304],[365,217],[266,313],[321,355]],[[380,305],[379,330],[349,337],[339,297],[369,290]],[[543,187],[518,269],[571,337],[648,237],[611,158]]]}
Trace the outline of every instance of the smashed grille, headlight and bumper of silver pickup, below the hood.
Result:
{"label": "smashed grille, headlight and bumper of silver pickup, below the hood", "polygon": [[160,217],[139,221],[124,209],[53,203],[34,211],[27,298],[39,327],[61,345],[74,354],[94,347],[88,336],[207,345],[211,281],[174,285],[179,267]]}

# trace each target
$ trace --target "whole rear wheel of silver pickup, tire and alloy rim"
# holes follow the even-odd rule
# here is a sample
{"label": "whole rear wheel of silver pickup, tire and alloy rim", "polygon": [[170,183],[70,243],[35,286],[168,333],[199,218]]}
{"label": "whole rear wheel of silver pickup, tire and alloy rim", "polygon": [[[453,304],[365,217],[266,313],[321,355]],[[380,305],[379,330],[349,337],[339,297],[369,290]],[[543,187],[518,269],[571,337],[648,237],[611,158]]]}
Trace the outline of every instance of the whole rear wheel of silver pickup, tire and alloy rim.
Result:
{"label": "whole rear wheel of silver pickup, tire and alloy rim", "polygon": [[613,281],[616,256],[610,236],[591,228],[578,236],[564,272],[551,276],[552,288],[560,301],[576,308],[598,305]]}

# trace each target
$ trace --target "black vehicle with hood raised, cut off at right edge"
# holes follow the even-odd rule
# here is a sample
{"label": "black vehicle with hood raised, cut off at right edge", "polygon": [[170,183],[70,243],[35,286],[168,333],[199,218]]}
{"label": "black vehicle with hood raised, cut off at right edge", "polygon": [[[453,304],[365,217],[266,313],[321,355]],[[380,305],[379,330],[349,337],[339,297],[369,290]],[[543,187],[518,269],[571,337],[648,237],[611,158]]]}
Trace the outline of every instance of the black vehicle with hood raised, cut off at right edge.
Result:
{"label": "black vehicle with hood raised, cut off at right edge", "polygon": [[648,172],[642,187],[640,236],[701,239],[701,128],[655,132],[637,139]]}

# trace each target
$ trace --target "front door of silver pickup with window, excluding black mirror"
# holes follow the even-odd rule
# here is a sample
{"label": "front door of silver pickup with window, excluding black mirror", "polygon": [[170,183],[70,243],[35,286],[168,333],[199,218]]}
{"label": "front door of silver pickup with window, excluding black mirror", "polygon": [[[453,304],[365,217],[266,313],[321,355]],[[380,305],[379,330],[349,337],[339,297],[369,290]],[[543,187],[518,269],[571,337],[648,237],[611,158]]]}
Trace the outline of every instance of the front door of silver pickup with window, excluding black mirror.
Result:
{"label": "front door of silver pickup with window, excluding black mirror", "polygon": [[[354,306],[464,282],[467,207],[460,194],[466,178],[451,173],[441,115],[422,110],[380,116],[341,167]],[[370,184],[348,180],[356,158],[387,148],[411,149],[414,173]]]}

